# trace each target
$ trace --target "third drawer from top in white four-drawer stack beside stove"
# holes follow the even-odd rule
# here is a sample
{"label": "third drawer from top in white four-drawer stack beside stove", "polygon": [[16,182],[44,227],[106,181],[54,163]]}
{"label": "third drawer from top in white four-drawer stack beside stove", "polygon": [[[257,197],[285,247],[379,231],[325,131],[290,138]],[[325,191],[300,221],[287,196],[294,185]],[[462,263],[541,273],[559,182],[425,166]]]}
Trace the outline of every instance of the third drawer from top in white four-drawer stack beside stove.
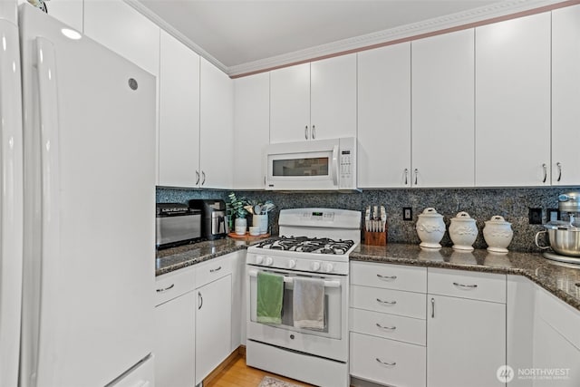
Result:
{"label": "third drawer from top in white four-drawer stack beside stove", "polygon": [[418,318],[351,308],[351,331],[426,345],[427,323]]}

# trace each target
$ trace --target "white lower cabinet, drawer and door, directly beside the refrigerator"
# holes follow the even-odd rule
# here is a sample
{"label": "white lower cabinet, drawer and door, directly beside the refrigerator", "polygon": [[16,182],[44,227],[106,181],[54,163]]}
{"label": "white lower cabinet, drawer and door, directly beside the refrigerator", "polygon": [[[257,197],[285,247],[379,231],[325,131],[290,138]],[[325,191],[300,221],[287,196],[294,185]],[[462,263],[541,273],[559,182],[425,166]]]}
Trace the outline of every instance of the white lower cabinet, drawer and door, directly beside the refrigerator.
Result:
{"label": "white lower cabinet, drawer and door, directly beside the refrigerator", "polygon": [[155,385],[195,386],[196,293],[194,268],[156,279]]}

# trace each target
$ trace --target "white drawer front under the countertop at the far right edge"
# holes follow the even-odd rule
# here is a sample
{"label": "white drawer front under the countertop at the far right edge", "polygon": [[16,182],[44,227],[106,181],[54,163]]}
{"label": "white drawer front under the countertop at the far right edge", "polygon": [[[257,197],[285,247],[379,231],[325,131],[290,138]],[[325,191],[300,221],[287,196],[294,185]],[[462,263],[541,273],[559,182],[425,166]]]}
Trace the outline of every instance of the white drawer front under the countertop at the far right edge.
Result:
{"label": "white drawer front under the countertop at the far right edge", "polygon": [[538,316],[580,349],[580,313],[541,288],[536,299]]}

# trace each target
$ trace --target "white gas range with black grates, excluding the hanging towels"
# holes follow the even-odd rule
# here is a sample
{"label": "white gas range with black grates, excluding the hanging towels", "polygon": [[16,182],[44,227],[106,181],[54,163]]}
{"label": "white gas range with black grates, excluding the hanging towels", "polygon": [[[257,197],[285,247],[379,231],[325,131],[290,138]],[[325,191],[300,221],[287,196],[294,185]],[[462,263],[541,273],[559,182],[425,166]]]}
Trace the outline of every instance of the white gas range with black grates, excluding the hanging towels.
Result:
{"label": "white gas range with black grates, excluding the hanging towels", "polygon": [[[360,242],[360,211],[280,211],[281,237],[247,249],[247,364],[324,387],[346,387],[349,254]],[[259,272],[284,276],[281,324],[256,319]],[[324,281],[324,329],[295,327],[294,278]]]}

